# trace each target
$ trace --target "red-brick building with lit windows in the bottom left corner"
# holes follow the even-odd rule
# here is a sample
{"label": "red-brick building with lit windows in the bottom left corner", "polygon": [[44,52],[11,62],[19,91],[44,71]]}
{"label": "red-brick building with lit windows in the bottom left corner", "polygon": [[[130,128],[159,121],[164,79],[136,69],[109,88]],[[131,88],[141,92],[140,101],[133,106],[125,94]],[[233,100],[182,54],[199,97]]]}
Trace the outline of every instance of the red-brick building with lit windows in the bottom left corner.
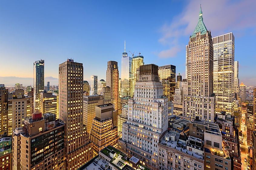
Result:
{"label": "red-brick building with lit windows in the bottom left corner", "polygon": [[12,137],[7,137],[5,135],[0,138],[0,160],[0,169],[12,169]]}

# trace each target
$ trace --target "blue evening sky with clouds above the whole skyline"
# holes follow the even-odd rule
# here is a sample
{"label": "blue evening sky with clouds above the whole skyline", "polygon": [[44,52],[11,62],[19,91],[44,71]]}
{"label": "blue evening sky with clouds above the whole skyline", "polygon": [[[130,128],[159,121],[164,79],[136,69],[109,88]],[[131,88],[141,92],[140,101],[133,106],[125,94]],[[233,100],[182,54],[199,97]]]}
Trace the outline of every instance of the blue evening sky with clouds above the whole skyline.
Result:
{"label": "blue evening sky with clouds above the whole skyline", "polygon": [[[0,1],[0,83],[33,85],[33,62],[45,60],[45,84],[58,84],[58,65],[83,63],[84,80],[106,79],[107,61],[124,52],[145,64],[176,65],[185,78],[185,46],[200,4],[212,37],[233,32],[240,83],[256,86],[256,1]],[[130,54],[131,56],[131,54]]]}

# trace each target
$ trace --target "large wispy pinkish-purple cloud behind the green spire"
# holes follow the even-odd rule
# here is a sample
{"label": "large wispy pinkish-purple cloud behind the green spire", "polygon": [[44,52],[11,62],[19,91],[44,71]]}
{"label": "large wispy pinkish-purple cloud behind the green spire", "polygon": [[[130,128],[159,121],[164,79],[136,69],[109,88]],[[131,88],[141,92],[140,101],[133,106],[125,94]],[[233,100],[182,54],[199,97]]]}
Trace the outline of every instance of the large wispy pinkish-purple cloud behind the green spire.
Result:
{"label": "large wispy pinkish-purple cloud behind the green spire", "polygon": [[[181,48],[180,39],[191,35],[196,27],[200,3],[202,3],[204,24],[208,30],[211,30],[212,36],[232,31],[242,35],[246,28],[255,29],[256,1],[254,0],[209,0],[202,2],[193,0],[187,3],[180,14],[173,17],[171,23],[165,23],[161,27],[162,36],[158,42],[163,45],[169,45],[169,51],[173,48]],[[167,51],[159,52],[158,56],[160,57],[160,54]]]}

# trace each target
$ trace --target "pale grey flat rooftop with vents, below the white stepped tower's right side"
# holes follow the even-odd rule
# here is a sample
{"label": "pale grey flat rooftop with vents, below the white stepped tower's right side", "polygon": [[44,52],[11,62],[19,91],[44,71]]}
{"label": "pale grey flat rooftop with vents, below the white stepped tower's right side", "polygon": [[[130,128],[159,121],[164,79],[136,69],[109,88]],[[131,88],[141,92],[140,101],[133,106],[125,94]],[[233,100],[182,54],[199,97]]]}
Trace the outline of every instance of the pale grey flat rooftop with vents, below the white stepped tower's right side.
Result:
{"label": "pale grey flat rooftop with vents, below the white stepped tower's right side", "polygon": [[186,147],[182,148],[181,146],[182,145],[184,146],[184,144],[181,144],[181,142],[178,142],[178,138],[179,138],[180,134],[179,133],[175,133],[175,134],[176,134],[175,141],[171,141],[171,140],[166,141],[165,137],[162,137],[159,143],[161,143],[162,145],[166,145],[168,147],[171,147],[173,149],[176,149],[178,151],[181,151],[181,152],[183,152],[185,154],[194,156],[194,157],[196,157],[198,159],[204,159],[203,155],[197,154],[197,153],[192,152],[192,151],[189,151],[189,150],[185,149]]}

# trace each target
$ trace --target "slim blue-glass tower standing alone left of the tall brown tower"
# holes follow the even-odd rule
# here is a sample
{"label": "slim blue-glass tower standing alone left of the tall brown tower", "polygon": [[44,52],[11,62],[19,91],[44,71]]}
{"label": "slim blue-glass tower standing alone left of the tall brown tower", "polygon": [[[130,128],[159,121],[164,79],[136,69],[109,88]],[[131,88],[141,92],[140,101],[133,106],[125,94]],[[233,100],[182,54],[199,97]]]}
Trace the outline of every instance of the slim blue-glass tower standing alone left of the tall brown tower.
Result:
{"label": "slim blue-glass tower standing alone left of the tall brown tower", "polygon": [[40,93],[45,88],[45,61],[34,62],[34,111],[40,111]]}

